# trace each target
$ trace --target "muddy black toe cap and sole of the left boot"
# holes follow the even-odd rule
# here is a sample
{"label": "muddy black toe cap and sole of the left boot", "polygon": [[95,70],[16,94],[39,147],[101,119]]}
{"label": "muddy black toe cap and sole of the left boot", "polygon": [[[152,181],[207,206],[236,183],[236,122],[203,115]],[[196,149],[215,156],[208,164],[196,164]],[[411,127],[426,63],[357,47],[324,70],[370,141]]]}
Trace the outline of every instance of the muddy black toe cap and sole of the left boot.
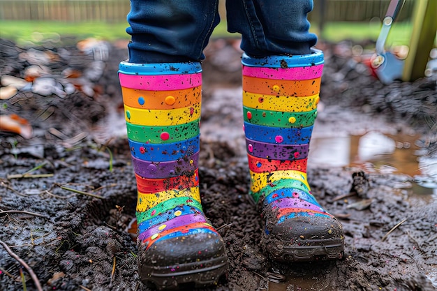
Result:
{"label": "muddy black toe cap and sole of the left boot", "polygon": [[140,277],[158,289],[186,283],[211,285],[228,268],[225,244],[216,232],[200,230],[169,237],[149,248],[142,242],[138,245]]}

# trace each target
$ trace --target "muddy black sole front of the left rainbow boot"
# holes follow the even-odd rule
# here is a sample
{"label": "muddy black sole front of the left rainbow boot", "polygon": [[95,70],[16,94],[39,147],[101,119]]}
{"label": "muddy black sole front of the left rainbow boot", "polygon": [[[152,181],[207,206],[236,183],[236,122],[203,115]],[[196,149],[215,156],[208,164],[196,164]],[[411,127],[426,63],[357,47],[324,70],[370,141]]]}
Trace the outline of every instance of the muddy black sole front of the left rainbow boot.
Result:
{"label": "muddy black sole front of the left rainbow boot", "polygon": [[142,282],[156,290],[193,290],[217,285],[228,274],[226,257],[190,262],[172,267],[142,266]]}

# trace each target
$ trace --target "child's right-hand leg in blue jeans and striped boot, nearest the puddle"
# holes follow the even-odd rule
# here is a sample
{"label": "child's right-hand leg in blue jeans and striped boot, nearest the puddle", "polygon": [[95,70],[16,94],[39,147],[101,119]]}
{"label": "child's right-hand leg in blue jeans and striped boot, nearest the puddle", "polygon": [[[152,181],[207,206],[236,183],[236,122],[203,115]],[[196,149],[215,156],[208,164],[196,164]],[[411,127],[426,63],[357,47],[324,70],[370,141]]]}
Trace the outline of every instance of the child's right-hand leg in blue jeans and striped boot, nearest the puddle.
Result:
{"label": "child's right-hand leg in blue jeans and striped boot, nearest the puddle", "polygon": [[229,30],[242,33],[246,52],[246,147],[251,194],[265,220],[262,244],[276,260],[339,258],[341,224],[320,207],[306,179],[323,68],[306,19],[313,1],[235,0],[227,7]]}

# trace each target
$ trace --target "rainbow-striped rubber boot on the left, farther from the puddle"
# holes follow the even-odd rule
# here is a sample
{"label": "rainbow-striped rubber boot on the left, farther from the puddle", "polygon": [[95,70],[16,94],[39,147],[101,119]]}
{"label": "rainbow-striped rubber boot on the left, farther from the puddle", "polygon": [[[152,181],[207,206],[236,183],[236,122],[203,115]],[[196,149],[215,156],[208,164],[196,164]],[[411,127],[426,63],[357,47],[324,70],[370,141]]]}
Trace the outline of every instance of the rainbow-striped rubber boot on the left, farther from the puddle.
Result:
{"label": "rainbow-striped rubber boot on the left, farther from the puddle", "polygon": [[138,186],[138,267],[159,290],[212,285],[228,269],[200,204],[201,71],[195,62],[119,66]]}

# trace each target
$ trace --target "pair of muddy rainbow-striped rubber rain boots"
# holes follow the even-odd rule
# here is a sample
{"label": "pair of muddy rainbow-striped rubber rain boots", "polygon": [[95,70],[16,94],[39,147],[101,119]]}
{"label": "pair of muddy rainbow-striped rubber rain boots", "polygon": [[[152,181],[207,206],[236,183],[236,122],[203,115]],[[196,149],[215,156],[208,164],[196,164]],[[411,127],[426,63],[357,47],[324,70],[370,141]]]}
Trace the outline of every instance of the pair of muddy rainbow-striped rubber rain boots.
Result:
{"label": "pair of muddy rainbow-striped rubber rain boots", "polygon": [[[306,158],[319,100],[323,53],[242,59],[251,196],[274,260],[343,255],[343,231],[311,195]],[[225,244],[202,211],[198,157],[200,63],[119,66],[138,185],[140,278],[159,290],[203,287],[228,269]]]}

